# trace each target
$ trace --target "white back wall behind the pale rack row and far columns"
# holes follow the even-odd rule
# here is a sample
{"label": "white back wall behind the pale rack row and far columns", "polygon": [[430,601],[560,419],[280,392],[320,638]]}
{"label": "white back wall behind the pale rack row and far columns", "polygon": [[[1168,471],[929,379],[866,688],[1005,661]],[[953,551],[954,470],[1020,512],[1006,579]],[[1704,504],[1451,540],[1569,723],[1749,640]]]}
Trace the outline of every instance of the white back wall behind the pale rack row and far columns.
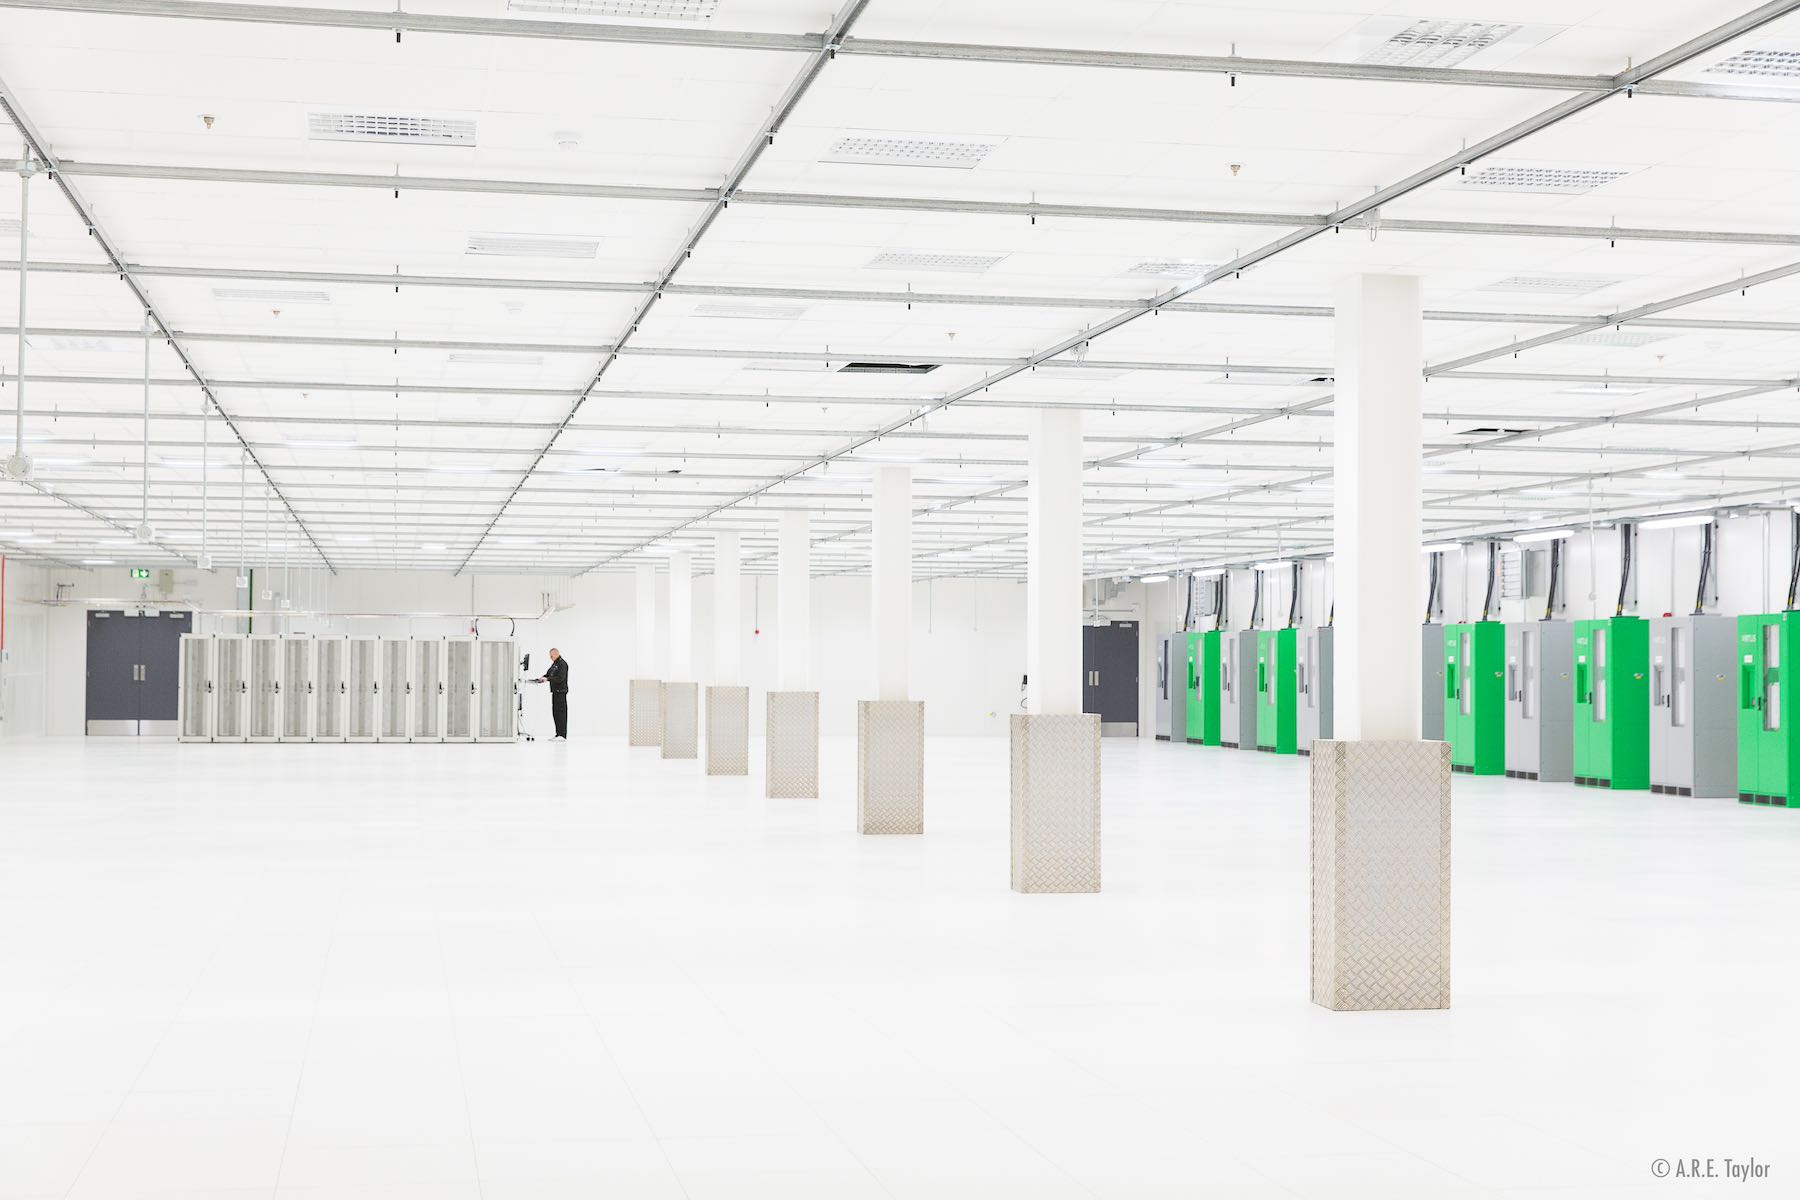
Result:
{"label": "white back wall behind the pale rack row and far columns", "polygon": [[[52,594],[56,583],[68,583],[72,603],[43,606],[9,603],[7,639],[20,630],[20,658],[49,669],[31,684],[23,673],[9,682],[9,736],[47,732],[79,736],[85,709],[86,604],[83,599],[157,604],[155,592],[131,583],[126,569],[68,570],[34,569],[32,579],[7,578],[31,588],[29,599]],[[23,574],[23,572],[22,572]],[[191,601],[202,612],[241,604],[230,569],[176,574],[175,599]],[[257,608],[279,604],[263,599],[263,585],[283,581],[257,574]],[[632,576],[464,576],[439,572],[293,572],[288,578],[295,604],[335,613],[527,613],[517,622],[488,617],[479,622],[482,637],[513,633],[522,651],[531,653],[533,673],[542,669],[551,646],[571,664],[571,734],[623,734],[626,680],[635,662],[635,587]],[[713,588],[711,578],[695,579],[695,673],[704,684],[713,660]],[[536,619],[549,594],[560,612]],[[776,682],[774,579],[752,576],[743,581],[743,669],[752,693]],[[925,702],[925,729],[932,736],[1004,736],[1006,718],[1019,705],[1019,678],[1024,675],[1024,587],[1015,581],[950,579],[918,583],[913,592],[913,694]],[[837,576],[812,585],[812,678],[821,693],[819,723],[826,734],[855,732],[855,702],[873,694],[869,635],[869,585],[866,578]],[[243,622],[202,615],[200,631],[241,631]],[[27,633],[36,630],[36,633]],[[378,637],[445,637],[470,633],[466,617],[256,617],[256,631],[275,633],[358,633]],[[668,630],[659,628],[666,646]],[[9,664],[11,666],[11,664]],[[31,691],[38,687],[38,691]],[[549,723],[549,700],[542,689],[526,693],[527,712],[540,729]],[[761,730],[760,694],[751,703],[752,730]]]}

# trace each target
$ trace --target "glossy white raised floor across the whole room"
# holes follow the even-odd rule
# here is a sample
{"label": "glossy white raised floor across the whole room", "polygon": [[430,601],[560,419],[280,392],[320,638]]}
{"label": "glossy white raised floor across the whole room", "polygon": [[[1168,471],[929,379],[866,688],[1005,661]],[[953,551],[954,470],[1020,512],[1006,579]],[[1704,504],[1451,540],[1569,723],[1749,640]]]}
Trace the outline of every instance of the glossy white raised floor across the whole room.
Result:
{"label": "glossy white raised floor across the whole room", "polygon": [[[929,833],[866,838],[848,738],[821,801],[623,738],[0,743],[0,1196],[1800,1178],[1800,811],[1458,775],[1453,1007],[1328,1013],[1303,761],[1109,739],[1105,891],[1021,896],[1006,759],[931,741]],[[1651,1177],[1708,1155],[1777,1175]]]}

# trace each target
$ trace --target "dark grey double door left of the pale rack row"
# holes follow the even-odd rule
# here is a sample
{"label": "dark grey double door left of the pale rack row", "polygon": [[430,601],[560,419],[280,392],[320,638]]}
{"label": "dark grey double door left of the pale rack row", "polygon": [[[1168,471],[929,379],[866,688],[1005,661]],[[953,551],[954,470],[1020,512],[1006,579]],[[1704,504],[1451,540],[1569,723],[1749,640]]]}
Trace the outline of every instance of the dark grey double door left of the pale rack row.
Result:
{"label": "dark grey double door left of the pale rack row", "polygon": [[176,734],[191,612],[88,612],[88,734]]}

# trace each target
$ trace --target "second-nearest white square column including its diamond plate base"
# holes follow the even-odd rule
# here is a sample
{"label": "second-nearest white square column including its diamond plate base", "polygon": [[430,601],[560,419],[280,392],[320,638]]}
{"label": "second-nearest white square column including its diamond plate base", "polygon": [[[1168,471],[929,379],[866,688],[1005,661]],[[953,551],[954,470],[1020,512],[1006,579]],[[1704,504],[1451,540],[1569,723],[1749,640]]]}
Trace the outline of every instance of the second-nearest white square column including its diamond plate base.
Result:
{"label": "second-nearest white square column including its diamond plate base", "polygon": [[1012,887],[1100,891],[1100,716],[1082,712],[1082,414],[1031,414],[1028,712],[1012,718]]}

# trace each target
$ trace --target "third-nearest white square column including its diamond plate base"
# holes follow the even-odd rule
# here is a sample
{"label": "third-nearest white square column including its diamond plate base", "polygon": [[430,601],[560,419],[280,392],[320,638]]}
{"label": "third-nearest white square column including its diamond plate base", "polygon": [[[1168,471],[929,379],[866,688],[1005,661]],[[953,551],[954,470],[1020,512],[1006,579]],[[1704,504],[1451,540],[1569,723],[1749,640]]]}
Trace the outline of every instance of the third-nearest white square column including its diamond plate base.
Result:
{"label": "third-nearest white square column including its diamond plate base", "polygon": [[925,705],[907,700],[913,658],[913,471],[875,470],[869,649],[875,700],[857,705],[857,826],[925,831]]}

